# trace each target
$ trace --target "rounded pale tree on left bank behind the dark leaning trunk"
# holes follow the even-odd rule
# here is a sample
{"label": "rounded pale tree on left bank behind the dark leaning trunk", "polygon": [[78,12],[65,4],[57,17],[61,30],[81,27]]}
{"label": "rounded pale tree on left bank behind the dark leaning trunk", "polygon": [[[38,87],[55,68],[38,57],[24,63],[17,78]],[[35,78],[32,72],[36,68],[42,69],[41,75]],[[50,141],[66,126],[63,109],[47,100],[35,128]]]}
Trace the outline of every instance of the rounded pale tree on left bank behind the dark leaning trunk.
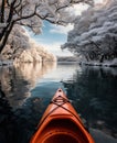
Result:
{"label": "rounded pale tree on left bank behind the dark leaning trunk", "polygon": [[19,56],[24,50],[30,47],[31,44],[25,30],[14,25],[2,50],[1,59],[14,59],[15,56]]}

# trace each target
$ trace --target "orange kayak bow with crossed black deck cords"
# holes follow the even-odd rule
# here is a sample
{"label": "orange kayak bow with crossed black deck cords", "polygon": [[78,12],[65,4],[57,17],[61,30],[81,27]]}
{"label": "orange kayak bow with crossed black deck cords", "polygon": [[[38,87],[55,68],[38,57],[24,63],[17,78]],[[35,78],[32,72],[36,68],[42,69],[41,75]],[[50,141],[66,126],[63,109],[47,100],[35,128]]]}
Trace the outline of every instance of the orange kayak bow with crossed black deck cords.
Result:
{"label": "orange kayak bow with crossed black deck cords", "polygon": [[94,143],[62,89],[57,89],[30,143]]}

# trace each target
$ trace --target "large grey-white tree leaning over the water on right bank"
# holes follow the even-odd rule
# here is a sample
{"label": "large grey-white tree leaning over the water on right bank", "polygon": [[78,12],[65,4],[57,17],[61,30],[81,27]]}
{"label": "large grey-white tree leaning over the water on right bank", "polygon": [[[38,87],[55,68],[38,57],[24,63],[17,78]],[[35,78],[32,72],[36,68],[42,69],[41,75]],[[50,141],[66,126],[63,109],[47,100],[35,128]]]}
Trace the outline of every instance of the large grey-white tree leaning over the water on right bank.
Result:
{"label": "large grey-white tree leaning over the water on right bank", "polygon": [[62,48],[88,62],[117,58],[117,0],[95,6],[77,16]]}

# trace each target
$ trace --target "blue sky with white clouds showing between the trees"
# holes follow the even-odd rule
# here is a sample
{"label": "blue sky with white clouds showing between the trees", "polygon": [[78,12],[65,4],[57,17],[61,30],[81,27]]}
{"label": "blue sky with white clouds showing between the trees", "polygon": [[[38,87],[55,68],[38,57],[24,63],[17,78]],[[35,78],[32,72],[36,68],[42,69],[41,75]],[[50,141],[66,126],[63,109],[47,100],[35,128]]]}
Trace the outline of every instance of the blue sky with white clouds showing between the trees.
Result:
{"label": "blue sky with white clouds showing between the trees", "polygon": [[[95,0],[95,2],[103,2],[103,0]],[[81,12],[86,9],[87,7],[85,4],[77,4],[71,9],[71,12],[74,12],[75,15],[79,15]],[[68,24],[67,26],[62,26],[44,21],[41,34],[34,35],[32,32],[29,32],[29,34],[39,45],[42,45],[54,55],[72,56],[73,54],[67,50],[61,50],[61,45],[67,41],[67,32],[72,29],[72,24]]]}

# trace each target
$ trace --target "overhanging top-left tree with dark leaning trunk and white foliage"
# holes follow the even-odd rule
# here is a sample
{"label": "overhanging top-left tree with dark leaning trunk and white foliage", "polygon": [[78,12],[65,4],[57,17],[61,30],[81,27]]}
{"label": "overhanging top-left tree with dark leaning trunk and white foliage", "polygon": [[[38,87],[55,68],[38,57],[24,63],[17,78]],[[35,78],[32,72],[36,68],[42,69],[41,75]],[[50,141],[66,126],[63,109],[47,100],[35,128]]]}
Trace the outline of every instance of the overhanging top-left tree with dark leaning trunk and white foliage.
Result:
{"label": "overhanging top-left tree with dark leaning trunk and white foliage", "polygon": [[92,4],[93,0],[1,0],[0,53],[14,24],[29,26],[34,33],[40,33],[42,20],[64,24],[67,22],[65,8],[81,2]]}

